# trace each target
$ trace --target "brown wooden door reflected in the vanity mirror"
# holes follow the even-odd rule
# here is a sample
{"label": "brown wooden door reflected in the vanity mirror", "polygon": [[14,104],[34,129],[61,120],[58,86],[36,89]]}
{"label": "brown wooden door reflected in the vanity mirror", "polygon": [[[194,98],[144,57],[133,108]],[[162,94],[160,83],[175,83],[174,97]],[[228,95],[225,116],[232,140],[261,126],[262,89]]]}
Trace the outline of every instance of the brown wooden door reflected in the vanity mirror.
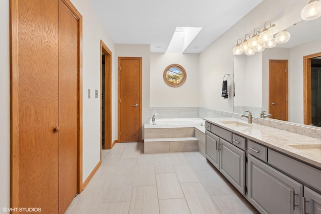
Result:
{"label": "brown wooden door reflected in the vanity mirror", "polygon": [[287,60],[269,60],[269,114],[288,120]]}

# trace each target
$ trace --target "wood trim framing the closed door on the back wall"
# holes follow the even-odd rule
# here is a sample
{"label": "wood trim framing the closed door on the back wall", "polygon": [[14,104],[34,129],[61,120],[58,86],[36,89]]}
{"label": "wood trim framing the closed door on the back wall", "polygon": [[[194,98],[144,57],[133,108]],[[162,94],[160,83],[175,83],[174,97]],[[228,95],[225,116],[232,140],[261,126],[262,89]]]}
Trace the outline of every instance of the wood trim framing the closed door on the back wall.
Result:
{"label": "wood trim framing the closed door on the back wall", "polygon": [[141,117],[142,117],[142,58],[141,57],[118,57],[118,139],[120,139],[120,62],[121,60],[128,59],[128,60],[139,60],[139,142],[142,142],[142,124],[141,124]]}

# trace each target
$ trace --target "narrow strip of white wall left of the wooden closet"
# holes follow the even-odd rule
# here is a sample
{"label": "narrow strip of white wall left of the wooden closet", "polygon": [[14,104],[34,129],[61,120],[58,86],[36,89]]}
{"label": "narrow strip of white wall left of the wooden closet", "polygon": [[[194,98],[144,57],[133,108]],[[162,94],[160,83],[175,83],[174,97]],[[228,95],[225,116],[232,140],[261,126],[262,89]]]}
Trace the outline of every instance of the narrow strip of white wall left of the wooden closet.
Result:
{"label": "narrow strip of white wall left of the wooden closet", "polygon": [[0,1],[0,19],[0,208],[3,208],[10,207],[9,0]]}

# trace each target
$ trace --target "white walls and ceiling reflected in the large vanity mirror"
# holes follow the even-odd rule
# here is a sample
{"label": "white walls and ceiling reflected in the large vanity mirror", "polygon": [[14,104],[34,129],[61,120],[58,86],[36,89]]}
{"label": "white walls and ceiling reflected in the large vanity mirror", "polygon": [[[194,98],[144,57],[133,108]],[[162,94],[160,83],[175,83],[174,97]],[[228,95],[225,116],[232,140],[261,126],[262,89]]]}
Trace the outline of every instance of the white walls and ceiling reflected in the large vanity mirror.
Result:
{"label": "white walls and ceiling reflected in the large vanity mirror", "polygon": [[[321,52],[321,19],[299,22],[286,31],[291,34],[288,43],[277,44],[275,48],[265,49],[264,52],[253,56],[234,56],[235,113],[244,114],[245,110],[250,110],[254,117],[260,117],[260,111],[267,110],[265,114],[270,113],[270,94],[278,96],[280,93],[269,92],[269,63],[270,60],[284,60],[288,63],[288,69],[284,71],[288,72],[288,95],[285,97],[288,104],[288,121],[304,123],[303,57]],[[312,76],[311,81],[315,78]],[[278,78],[273,83],[277,80]],[[312,94],[315,93],[314,89],[315,87],[312,88]],[[312,111],[316,112],[315,109],[317,108],[313,108]]]}

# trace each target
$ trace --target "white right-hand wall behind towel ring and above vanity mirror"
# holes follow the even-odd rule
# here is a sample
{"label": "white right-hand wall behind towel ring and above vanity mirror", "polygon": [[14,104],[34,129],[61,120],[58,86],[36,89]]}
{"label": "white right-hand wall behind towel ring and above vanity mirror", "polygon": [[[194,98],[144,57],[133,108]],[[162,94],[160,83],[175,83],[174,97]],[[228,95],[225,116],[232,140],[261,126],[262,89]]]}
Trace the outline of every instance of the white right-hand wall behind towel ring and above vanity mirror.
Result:
{"label": "white right-hand wall behind towel ring and above vanity mirror", "polygon": [[273,33],[288,28],[301,20],[300,12],[306,4],[307,1],[301,0],[263,1],[207,47],[200,54],[200,106],[232,112],[233,96],[229,94],[229,99],[223,100],[220,91],[224,74],[233,73],[232,49],[237,39],[243,40],[244,35],[252,34],[255,28],[262,30],[266,21],[276,24]]}

